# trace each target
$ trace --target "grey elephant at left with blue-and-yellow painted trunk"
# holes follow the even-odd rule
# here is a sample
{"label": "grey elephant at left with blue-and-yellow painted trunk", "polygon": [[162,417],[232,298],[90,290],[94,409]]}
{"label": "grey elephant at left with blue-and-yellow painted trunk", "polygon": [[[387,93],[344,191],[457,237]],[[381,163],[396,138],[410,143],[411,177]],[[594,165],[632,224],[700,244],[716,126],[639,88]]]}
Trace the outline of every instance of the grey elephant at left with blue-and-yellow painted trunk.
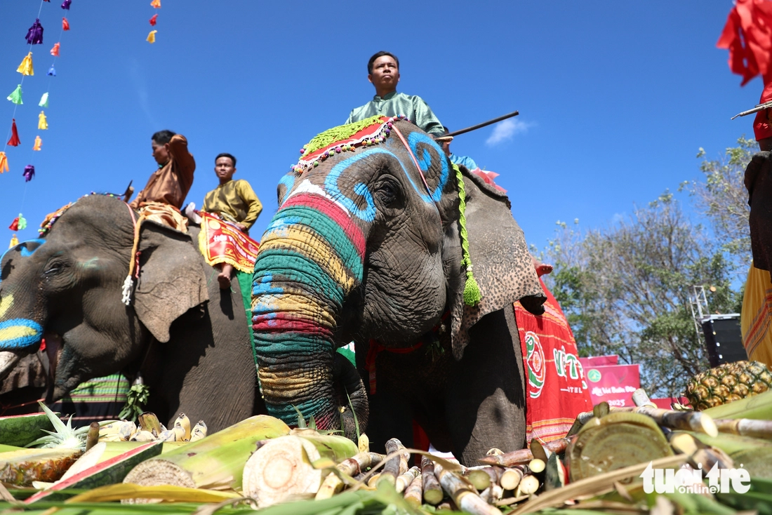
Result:
{"label": "grey elephant at left with blue-and-yellow painted trunk", "polygon": [[239,289],[222,292],[189,234],[141,223],[139,276],[129,306],[136,213],[119,198],[87,195],[45,237],[0,260],[0,379],[46,337],[49,400],[81,381],[141,371],[147,408],[161,420],[185,412],[212,430],[252,415],[255,364]]}

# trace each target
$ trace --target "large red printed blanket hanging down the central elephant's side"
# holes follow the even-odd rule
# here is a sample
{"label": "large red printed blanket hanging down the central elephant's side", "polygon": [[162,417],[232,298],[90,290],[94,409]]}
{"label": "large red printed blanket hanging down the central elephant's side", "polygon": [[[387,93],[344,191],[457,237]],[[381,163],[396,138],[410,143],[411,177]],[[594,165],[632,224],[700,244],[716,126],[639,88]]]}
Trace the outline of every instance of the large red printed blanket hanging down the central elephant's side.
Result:
{"label": "large red printed blanket hanging down the central elephant's side", "polygon": [[528,313],[514,304],[520,347],[527,374],[527,441],[550,442],[566,435],[577,415],[592,410],[590,391],[579,363],[577,344],[555,297],[547,296],[544,313]]}

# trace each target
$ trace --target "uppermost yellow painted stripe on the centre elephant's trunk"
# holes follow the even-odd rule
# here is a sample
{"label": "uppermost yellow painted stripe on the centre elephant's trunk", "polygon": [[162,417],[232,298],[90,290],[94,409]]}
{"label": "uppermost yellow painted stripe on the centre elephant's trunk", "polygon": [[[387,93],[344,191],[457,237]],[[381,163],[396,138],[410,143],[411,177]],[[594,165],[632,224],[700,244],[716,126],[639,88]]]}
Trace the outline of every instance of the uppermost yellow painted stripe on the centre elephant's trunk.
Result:
{"label": "uppermost yellow painted stripe on the centre elephant's trunk", "polygon": [[337,252],[316,232],[307,228],[299,228],[290,225],[282,236],[264,238],[260,242],[260,249],[283,249],[303,253],[308,259],[317,263],[333,278],[335,282],[344,287],[344,291],[350,291],[354,287],[354,277],[350,276],[343,261],[337,256]]}

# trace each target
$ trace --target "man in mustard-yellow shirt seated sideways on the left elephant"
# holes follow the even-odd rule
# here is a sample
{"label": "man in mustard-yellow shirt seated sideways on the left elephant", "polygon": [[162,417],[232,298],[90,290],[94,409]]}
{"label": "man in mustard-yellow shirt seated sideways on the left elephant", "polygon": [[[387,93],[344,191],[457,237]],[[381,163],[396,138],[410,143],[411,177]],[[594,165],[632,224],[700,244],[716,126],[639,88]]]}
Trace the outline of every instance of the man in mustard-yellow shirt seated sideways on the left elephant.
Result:
{"label": "man in mustard-yellow shirt seated sideways on the left elephant", "polygon": [[[249,234],[249,228],[262,212],[262,204],[249,182],[244,179],[233,180],[235,172],[236,158],[231,154],[218,154],[215,158],[215,174],[220,185],[206,194],[201,211],[216,214],[239,231]],[[217,280],[220,288],[227,290],[231,287],[233,266],[228,263],[222,263],[221,266]]]}

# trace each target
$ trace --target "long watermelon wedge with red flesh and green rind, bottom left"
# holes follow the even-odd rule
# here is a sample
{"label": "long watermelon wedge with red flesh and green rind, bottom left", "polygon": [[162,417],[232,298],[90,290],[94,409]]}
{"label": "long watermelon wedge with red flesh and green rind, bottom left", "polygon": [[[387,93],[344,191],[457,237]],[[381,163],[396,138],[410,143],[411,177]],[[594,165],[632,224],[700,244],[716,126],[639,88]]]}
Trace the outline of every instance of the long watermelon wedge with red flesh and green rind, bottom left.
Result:
{"label": "long watermelon wedge with red flesh and green rind, bottom left", "polygon": [[[30,504],[42,499],[47,501],[62,500],[70,496],[68,493],[63,493],[62,490],[93,490],[98,486],[120,483],[134,466],[144,462],[146,459],[151,459],[161,454],[162,447],[163,442],[150,442],[106,461],[96,462],[85,469],[76,470],[73,474],[66,475],[66,477],[63,476],[62,479],[49,489],[36,493],[24,502]],[[86,451],[86,454],[91,452],[89,461],[97,460],[105,449],[107,449],[107,442],[100,442]],[[86,454],[82,458],[85,458]],[[70,467],[70,469],[74,467],[75,465]],[[67,472],[69,473],[69,470]]]}

